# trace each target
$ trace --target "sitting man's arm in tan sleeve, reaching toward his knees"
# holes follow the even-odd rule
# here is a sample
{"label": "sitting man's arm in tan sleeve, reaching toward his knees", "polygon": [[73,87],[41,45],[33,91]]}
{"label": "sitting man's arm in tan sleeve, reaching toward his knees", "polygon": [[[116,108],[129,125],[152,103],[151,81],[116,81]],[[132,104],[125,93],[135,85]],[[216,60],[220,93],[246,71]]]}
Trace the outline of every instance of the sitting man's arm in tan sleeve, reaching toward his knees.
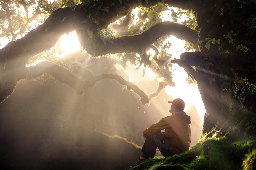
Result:
{"label": "sitting man's arm in tan sleeve, reaching toward his knees", "polygon": [[163,118],[163,119],[161,119],[158,123],[156,123],[156,124],[152,124],[151,126],[149,126],[147,129],[145,129],[144,131],[143,131],[143,136],[144,137],[148,137],[148,136],[150,136],[150,135],[152,135],[152,134],[154,134],[154,133],[156,133],[156,132],[158,132],[158,131],[161,131],[161,130],[163,130],[163,129],[165,129],[165,128],[168,128],[168,127],[170,127],[170,124],[168,124],[168,121],[166,120],[167,119],[167,117],[165,117],[165,118]]}

